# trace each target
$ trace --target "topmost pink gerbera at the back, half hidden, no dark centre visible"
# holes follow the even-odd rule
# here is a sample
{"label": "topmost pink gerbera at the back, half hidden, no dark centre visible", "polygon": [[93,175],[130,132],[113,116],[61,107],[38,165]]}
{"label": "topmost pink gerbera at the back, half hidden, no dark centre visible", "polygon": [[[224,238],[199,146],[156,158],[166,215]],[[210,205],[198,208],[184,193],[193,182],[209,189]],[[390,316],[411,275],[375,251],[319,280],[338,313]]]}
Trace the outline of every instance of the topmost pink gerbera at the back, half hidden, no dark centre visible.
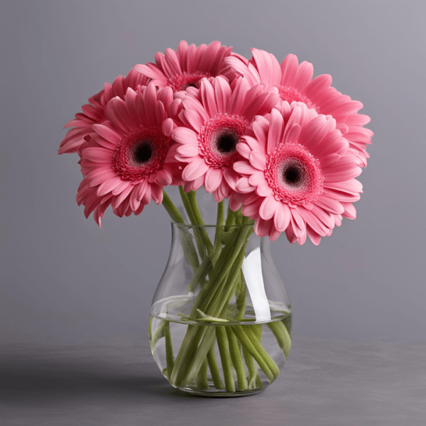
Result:
{"label": "topmost pink gerbera at the back, half hidden, no dark centre visible", "polygon": [[148,62],[133,68],[150,77],[156,86],[170,86],[173,92],[180,92],[195,87],[203,77],[224,75],[228,68],[224,58],[231,55],[231,51],[232,48],[222,46],[219,41],[196,47],[182,40],[176,52],[168,48],[165,54],[155,53],[155,64]]}

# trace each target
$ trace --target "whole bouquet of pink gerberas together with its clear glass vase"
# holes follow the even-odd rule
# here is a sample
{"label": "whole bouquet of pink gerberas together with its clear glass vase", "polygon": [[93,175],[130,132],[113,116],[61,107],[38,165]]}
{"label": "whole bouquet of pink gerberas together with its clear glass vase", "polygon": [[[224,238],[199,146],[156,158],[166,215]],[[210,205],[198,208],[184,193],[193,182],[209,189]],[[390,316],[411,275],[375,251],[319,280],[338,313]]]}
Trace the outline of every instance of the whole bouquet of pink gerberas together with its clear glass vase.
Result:
{"label": "whole bouquet of pink gerberas together with its clear glass vase", "polygon": [[[260,391],[291,344],[288,295],[269,241],[313,244],[354,219],[366,166],[361,102],[313,66],[218,41],[157,53],[89,98],[59,153],[78,153],[77,203],[101,225],[151,202],[173,241],[150,317],[153,356],[176,388],[203,395]],[[176,206],[164,188],[179,187]],[[205,224],[197,190],[217,202]],[[226,204],[225,204],[226,202]]]}

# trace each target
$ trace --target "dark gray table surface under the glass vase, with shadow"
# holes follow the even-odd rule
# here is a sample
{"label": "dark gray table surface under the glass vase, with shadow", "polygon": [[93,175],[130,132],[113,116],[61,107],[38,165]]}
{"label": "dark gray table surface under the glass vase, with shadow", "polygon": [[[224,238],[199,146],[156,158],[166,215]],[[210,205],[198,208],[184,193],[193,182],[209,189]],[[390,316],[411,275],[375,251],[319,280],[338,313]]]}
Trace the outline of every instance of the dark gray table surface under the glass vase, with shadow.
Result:
{"label": "dark gray table surface under the glass vase, with shadow", "polygon": [[425,426],[426,344],[296,337],[275,383],[242,398],[174,390],[144,336],[1,345],[0,425]]}

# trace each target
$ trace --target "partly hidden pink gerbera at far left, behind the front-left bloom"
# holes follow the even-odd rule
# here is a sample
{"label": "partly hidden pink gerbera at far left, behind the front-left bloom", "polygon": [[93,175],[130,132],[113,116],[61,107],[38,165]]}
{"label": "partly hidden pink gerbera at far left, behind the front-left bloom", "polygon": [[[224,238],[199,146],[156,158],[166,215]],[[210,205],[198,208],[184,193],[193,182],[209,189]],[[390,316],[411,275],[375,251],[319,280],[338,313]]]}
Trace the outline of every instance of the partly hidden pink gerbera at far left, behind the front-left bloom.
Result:
{"label": "partly hidden pink gerbera at far left, behind the front-left bloom", "polygon": [[89,104],[82,106],[82,112],[75,114],[75,119],[65,124],[65,127],[72,127],[67,131],[63,141],[60,143],[58,153],[79,153],[87,146],[89,133],[92,133],[92,125],[100,124],[107,119],[105,107],[109,99],[120,97],[124,99],[126,90],[131,87],[138,89],[141,85],[146,86],[149,78],[141,73],[131,70],[126,77],[119,75],[112,84],[105,83],[101,92],[89,98]]}

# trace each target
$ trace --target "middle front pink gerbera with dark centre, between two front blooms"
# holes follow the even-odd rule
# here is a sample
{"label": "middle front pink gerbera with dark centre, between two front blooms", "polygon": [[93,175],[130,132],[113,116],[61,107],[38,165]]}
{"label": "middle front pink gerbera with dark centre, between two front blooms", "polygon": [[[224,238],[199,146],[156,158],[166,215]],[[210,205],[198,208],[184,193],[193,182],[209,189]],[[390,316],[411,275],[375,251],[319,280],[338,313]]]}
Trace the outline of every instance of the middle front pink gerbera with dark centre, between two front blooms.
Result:
{"label": "middle front pink gerbera with dark centre, between two front blooms", "polygon": [[178,143],[176,158],[188,163],[182,172],[185,192],[204,185],[217,202],[231,197],[239,178],[232,168],[236,144],[253,117],[267,114],[277,102],[278,94],[263,85],[251,88],[243,78],[232,88],[224,77],[203,79],[200,91],[182,97],[184,125],[175,127],[172,136]]}

